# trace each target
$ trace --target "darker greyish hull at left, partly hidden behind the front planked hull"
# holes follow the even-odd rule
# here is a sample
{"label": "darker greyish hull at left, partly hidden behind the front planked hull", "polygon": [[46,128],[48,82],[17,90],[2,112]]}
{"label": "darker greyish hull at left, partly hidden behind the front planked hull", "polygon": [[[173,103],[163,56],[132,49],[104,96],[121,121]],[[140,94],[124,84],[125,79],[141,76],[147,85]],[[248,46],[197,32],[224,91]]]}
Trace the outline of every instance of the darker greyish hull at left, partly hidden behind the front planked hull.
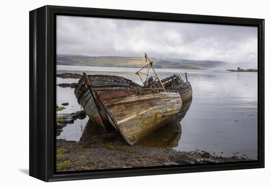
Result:
{"label": "darker greyish hull at left, partly hidden behind the front planked hull", "polygon": [[[114,90],[130,90],[141,88],[140,85],[133,81],[112,75],[88,75],[92,82],[92,87],[95,91],[114,91]],[[102,120],[99,109],[95,105],[95,100],[92,97],[90,90],[85,85],[85,80],[80,79],[74,89],[74,94],[79,105],[85,111],[86,115],[95,123],[102,126],[106,131],[110,131],[112,126]]]}

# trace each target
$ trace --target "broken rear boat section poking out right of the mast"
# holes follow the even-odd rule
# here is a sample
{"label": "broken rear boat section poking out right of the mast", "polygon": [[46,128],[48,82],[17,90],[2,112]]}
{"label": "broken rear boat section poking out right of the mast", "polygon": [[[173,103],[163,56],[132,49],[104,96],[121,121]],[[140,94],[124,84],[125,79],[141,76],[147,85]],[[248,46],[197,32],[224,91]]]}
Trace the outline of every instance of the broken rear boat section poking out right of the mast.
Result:
{"label": "broken rear boat section poking out right of the mast", "polygon": [[166,89],[176,90],[182,97],[183,102],[187,102],[192,98],[192,87],[190,82],[187,81],[187,74],[185,73],[186,82],[182,80],[179,75],[172,75],[168,78],[161,80]]}

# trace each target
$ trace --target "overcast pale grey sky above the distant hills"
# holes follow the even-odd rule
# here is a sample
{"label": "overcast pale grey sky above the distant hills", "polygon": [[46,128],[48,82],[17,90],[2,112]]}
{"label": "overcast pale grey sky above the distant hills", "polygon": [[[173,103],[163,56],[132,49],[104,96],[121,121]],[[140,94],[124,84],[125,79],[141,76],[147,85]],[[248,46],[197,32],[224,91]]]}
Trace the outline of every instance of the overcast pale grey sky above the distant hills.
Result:
{"label": "overcast pale grey sky above the distant hills", "polygon": [[57,54],[257,63],[257,28],[57,16]]}

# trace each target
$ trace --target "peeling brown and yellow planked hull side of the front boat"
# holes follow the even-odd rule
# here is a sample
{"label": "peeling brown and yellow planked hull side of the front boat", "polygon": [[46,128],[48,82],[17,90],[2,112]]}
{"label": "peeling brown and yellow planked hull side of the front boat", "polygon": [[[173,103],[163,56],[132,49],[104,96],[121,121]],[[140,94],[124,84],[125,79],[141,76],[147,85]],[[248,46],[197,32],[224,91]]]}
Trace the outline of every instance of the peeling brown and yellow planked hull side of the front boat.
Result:
{"label": "peeling brown and yellow planked hull side of the front boat", "polygon": [[168,124],[182,106],[179,93],[163,89],[107,91],[98,95],[103,115],[130,145]]}

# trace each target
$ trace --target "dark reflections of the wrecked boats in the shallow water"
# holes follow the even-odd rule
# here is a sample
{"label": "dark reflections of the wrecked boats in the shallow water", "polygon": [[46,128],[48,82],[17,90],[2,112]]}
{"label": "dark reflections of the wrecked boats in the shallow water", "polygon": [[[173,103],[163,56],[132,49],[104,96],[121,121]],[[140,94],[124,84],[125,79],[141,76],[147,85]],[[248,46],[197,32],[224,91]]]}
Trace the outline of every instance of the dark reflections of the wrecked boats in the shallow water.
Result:
{"label": "dark reflections of the wrecked boats in the shallow water", "polygon": [[[185,117],[191,103],[192,98],[182,104],[182,108],[178,116],[173,121],[171,121],[168,125],[165,125],[155,130],[153,133],[143,137],[140,141],[136,142],[135,145],[146,147],[177,147],[182,133],[180,122]],[[91,142],[94,137],[101,136],[102,138],[102,134],[106,133],[107,132],[100,125],[96,125],[91,120],[89,120],[82,133],[80,141]],[[121,137],[117,131],[112,131],[109,133],[111,133],[113,136]],[[115,138],[113,138],[112,141],[114,141],[114,139]]]}

